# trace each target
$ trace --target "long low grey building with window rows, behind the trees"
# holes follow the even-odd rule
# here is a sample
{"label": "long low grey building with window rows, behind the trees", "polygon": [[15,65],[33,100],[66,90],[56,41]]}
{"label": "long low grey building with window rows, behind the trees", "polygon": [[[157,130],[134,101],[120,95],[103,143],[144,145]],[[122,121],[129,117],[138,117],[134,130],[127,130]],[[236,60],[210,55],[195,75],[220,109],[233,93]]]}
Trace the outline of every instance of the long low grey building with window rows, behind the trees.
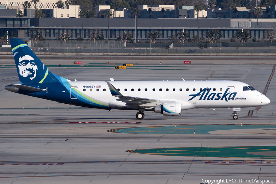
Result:
{"label": "long low grey building with window rows, behind the trees", "polygon": [[[82,21],[83,32],[82,35]],[[63,31],[71,32],[71,39],[78,37],[88,38],[86,33],[93,29],[100,29],[105,39],[108,38],[108,20],[102,18],[22,18],[21,38],[29,39],[29,29],[42,29],[46,39],[55,39],[57,34]],[[211,26],[212,25],[212,26]],[[219,29],[222,31],[222,39],[229,40],[237,30],[247,29],[252,37],[257,38],[257,19],[199,19],[199,36],[204,37],[206,30]],[[259,20],[259,38],[265,38],[266,30],[276,29],[275,19]],[[176,35],[180,31],[186,31],[190,37],[197,35],[197,19],[167,19],[160,18],[139,19],[138,39],[148,40],[146,35],[151,30],[160,33],[159,40],[168,40],[168,37]],[[19,18],[0,18],[0,34],[7,31],[17,33],[19,31]],[[118,33],[130,32],[135,35],[135,19],[111,18],[109,21],[109,39],[115,40]],[[24,36],[22,36],[24,35]]]}

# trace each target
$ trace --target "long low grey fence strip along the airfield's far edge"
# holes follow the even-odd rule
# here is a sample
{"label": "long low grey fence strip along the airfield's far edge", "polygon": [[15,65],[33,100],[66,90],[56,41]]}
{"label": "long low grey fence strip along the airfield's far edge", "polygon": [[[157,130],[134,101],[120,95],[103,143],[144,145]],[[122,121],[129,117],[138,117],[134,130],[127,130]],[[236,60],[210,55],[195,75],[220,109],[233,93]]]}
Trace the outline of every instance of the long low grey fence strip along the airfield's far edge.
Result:
{"label": "long low grey fence strip along the airfield's far edge", "polygon": [[[32,48],[43,53],[116,53],[116,54],[276,54],[276,49],[165,49],[165,48]],[[0,52],[11,52],[11,48],[1,48]]]}

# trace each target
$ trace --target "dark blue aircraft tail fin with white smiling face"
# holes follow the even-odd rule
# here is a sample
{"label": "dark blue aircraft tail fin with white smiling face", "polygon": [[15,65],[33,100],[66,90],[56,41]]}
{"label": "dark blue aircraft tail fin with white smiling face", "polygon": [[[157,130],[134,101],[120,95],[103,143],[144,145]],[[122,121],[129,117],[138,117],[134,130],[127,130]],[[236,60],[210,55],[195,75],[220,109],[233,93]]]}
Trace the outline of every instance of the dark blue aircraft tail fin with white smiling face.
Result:
{"label": "dark blue aircraft tail fin with white smiling face", "polygon": [[59,82],[61,77],[52,74],[23,40],[10,39],[10,45],[21,84]]}

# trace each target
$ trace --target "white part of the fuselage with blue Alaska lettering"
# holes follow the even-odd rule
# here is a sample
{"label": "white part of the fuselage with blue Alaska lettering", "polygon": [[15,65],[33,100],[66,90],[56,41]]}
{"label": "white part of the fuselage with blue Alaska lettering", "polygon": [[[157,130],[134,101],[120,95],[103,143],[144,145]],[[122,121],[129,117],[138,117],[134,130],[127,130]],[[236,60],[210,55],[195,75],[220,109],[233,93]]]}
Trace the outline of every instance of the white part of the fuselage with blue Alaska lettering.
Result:
{"label": "white part of the fuselage with blue Alaska lettering", "polygon": [[[270,100],[257,90],[243,90],[238,81],[109,81],[122,95],[174,101],[181,109],[234,108],[266,105]],[[112,96],[105,81],[69,82],[78,92],[114,109],[138,109]],[[98,86],[98,88],[97,88]],[[99,87],[100,86],[100,87]],[[84,91],[85,89],[85,91]],[[98,89],[98,91],[97,91]]]}

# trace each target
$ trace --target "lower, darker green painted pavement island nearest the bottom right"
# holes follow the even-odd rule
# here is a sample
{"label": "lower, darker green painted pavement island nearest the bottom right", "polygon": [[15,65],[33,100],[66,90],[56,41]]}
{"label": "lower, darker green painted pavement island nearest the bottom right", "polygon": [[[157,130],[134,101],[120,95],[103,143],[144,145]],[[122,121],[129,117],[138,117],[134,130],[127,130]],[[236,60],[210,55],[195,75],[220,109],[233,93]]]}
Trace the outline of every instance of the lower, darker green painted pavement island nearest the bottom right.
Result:
{"label": "lower, darker green painted pavement island nearest the bottom right", "polygon": [[127,152],[167,156],[276,159],[276,146],[166,148],[166,151],[164,148],[156,148],[128,150]]}

